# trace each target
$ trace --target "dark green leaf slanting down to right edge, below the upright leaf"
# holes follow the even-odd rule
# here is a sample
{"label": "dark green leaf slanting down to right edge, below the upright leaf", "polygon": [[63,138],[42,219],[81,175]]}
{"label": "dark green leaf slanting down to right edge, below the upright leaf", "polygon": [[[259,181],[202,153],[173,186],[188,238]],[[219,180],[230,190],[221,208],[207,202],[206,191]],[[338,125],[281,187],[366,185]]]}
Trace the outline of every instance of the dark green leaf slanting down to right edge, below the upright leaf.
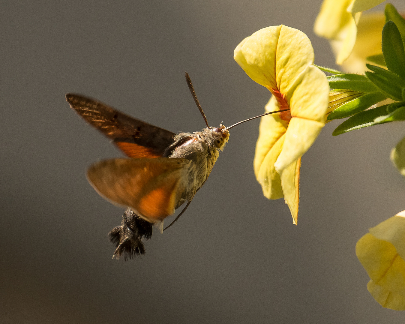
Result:
{"label": "dark green leaf slanting down to right edge, below the upright leaf", "polygon": [[405,81],[396,74],[387,71],[378,66],[366,64],[367,68],[375,73],[366,71],[366,76],[373,82],[379,90],[395,101],[402,101],[402,88],[405,87]]}

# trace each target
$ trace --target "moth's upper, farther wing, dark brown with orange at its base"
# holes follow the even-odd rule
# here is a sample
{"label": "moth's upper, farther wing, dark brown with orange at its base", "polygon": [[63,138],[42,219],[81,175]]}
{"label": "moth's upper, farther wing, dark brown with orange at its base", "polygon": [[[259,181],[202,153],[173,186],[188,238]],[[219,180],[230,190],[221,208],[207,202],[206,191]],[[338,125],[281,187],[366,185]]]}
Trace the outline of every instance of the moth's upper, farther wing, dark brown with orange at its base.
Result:
{"label": "moth's upper, farther wing, dark brown with orange at its base", "polygon": [[100,130],[130,158],[157,158],[173,144],[175,133],[132,118],[98,100],[66,94],[66,101],[83,119]]}

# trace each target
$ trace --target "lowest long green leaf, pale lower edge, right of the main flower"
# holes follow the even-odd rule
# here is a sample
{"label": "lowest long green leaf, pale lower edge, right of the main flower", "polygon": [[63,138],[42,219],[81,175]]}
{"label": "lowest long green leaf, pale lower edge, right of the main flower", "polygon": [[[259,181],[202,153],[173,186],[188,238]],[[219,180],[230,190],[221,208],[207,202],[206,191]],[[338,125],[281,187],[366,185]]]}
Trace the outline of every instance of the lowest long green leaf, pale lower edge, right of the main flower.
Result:
{"label": "lowest long green leaf, pale lower edge, right of the main flower", "polygon": [[337,136],[343,133],[350,132],[351,130],[360,129],[367,126],[373,126],[377,124],[384,124],[386,122],[374,122],[374,119],[379,116],[387,115],[387,107],[388,104],[362,111],[349,119],[345,120],[342,124],[337,126],[337,128],[333,131],[332,135]]}

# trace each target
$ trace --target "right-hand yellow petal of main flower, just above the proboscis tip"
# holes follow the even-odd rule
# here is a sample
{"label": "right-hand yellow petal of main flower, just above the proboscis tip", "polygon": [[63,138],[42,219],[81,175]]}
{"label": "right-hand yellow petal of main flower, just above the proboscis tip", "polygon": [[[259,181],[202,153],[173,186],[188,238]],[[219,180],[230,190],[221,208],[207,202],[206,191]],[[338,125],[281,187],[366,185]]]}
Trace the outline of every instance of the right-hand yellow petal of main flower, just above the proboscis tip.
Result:
{"label": "right-hand yellow petal of main flower, just above the proboscis tip", "polygon": [[324,123],[328,103],[329,83],[325,74],[316,66],[308,66],[291,96],[291,116]]}

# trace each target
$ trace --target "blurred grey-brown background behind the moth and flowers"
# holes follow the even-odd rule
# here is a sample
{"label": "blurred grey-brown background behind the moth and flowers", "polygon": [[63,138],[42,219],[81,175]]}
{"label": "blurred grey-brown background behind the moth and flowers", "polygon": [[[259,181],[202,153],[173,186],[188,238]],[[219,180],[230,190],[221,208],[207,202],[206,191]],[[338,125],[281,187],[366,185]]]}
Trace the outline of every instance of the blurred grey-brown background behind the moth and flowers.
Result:
{"label": "blurred grey-brown background behind the moth and flowers", "polygon": [[367,292],[354,252],[369,227],[405,209],[405,179],[388,157],[403,123],[338,137],[328,124],[303,157],[298,226],[254,177],[258,120],[234,128],[185,215],[129,262],[112,260],[107,240],[123,210],[85,179],[92,162],[122,153],[66,92],[192,132],[204,121],[188,71],[209,122],[233,124],[269,100],[233,60],[256,30],[298,28],[315,63],[335,67],[312,32],[320,4],[2,1],[0,322],[403,323]]}

